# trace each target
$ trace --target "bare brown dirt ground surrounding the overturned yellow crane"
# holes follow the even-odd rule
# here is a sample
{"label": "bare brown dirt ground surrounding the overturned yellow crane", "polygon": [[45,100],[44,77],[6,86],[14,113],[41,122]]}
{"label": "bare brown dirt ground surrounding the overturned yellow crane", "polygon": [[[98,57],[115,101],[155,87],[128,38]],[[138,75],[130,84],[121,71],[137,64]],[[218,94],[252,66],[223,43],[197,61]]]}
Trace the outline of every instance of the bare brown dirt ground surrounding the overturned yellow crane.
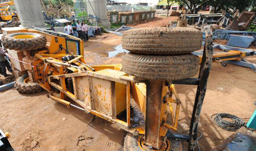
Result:
{"label": "bare brown dirt ground surrounding the overturned yellow crane", "polygon": [[[170,18],[144,25],[160,26]],[[121,63],[123,53],[108,57],[108,52],[119,44],[121,37],[113,34],[91,38],[85,43],[85,61],[89,65]],[[249,59],[256,63],[256,57]],[[201,151],[210,151],[233,133],[215,126],[213,114],[250,118],[256,109],[256,73],[251,69],[214,63],[207,86],[199,124],[203,133],[199,140]],[[187,133],[196,87],[176,85],[176,88],[182,100],[178,133]],[[92,114],[66,108],[46,94],[21,95],[14,88],[0,93],[0,128],[10,133],[9,141],[16,151],[123,151],[127,132]]]}

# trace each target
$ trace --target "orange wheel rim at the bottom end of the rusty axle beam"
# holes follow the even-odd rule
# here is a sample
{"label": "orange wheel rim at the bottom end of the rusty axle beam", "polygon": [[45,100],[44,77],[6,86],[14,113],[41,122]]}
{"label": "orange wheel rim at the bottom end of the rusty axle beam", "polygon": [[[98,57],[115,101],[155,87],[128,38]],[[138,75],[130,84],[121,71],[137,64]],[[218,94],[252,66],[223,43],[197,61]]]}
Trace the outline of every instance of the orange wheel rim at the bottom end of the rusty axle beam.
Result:
{"label": "orange wheel rim at the bottom end of the rusty axle beam", "polygon": [[162,143],[160,150],[149,149],[149,147],[145,145],[145,139],[142,136],[139,136],[138,138],[138,146],[140,147],[141,151],[170,151],[171,149],[171,143],[169,140]]}

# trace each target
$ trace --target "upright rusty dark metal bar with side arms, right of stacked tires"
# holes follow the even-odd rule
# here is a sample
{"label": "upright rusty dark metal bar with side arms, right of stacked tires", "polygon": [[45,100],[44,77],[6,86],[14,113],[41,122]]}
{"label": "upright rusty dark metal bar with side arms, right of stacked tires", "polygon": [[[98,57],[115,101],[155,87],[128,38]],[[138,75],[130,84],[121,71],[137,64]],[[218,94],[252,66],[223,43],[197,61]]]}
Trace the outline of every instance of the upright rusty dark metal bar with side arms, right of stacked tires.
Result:
{"label": "upright rusty dark metal bar with side arms, right of stacked tires", "polygon": [[170,132],[167,134],[167,137],[169,139],[189,142],[188,151],[195,151],[196,148],[198,123],[200,119],[203,100],[206,93],[207,81],[213,62],[212,26],[206,25],[204,26],[204,29],[206,32],[206,41],[203,50],[199,77],[172,81],[172,84],[197,85],[189,135],[171,134]]}

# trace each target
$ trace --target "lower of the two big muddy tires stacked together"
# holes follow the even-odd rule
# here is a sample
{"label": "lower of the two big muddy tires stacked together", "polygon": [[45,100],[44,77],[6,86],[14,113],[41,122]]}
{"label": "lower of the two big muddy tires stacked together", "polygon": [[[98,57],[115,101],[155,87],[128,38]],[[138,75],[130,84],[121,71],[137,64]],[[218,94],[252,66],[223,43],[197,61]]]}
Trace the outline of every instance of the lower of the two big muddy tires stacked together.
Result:
{"label": "lower of the two big muddy tires stacked together", "polygon": [[149,80],[178,80],[195,76],[199,57],[193,54],[157,56],[127,53],[122,58],[123,71]]}

